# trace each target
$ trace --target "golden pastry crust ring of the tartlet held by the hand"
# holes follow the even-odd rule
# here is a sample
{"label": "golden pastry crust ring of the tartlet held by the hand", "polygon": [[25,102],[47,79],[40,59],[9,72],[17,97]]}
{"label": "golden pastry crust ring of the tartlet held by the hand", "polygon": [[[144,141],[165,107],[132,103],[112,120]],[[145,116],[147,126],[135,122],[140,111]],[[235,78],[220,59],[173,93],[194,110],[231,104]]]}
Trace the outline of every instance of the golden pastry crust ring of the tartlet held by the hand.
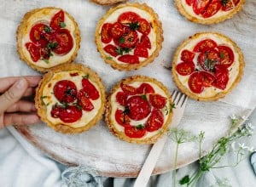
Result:
{"label": "golden pastry crust ring of the tartlet held by the hand", "polygon": [[[96,113],[96,116],[93,117],[90,122],[84,124],[83,127],[71,127],[68,124],[58,123],[53,124],[50,122],[47,118],[47,106],[44,105],[44,102],[42,102],[42,96],[44,95],[44,88],[49,82],[51,82],[52,77],[55,75],[55,73],[63,72],[63,71],[81,71],[84,73],[84,75],[88,75],[91,82],[96,83],[97,87],[99,88],[98,92],[100,93],[100,99],[101,99],[101,107]],[[84,131],[87,131],[90,129],[90,127],[93,127],[96,125],[96,122],[98,122],[100,119],[102,119],[102,114],[105,111],[105,104],[106,104],[106,93],[105,93],[105,87],[102,84],[101,78],[96,74],[96,72],[91,71],[90,68],[80,65],[80,64],[67,64],[67,65],[61,65],[55,68],[52,68],[48,73],[44,75],[41,82],[38,84],[38,88],[36,89],[36,96],[35,96],[35,105],[38,109],[38,116],[41,117],[41,120],[45,122],[49,127],[52,127],[57,132],[61,133],[82,133]]]}

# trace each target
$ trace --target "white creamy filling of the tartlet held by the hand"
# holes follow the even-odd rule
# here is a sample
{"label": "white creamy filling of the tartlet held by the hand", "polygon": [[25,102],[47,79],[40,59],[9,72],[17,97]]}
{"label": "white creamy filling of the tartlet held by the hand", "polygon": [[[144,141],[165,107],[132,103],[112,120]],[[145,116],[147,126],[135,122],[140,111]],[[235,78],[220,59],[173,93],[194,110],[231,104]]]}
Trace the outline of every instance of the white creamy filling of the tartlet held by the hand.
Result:
{"label": "white creamy filling of the tartlet held by the hand", "polygon": [[[78,72],[79,76],[71,77],[70,73],[75,73],[75,72]],[[79,93],[79,90],[81,88],[83,88],[82,87],[83,76],[84,76],[84,72],[82,72],[82,71],[63,71],[63,72],[55,73],[55,75],[52,77],[50,82],[45,85],[44,91],[43,91],[43,97],[44,97],[43,100],[44,100],[44,104],[47,105],[46,115],[47,115],[47,119],[49,120],[49,122],[51,122],[53,124],[60,124],[60,123],[61,124],[66,124],[66,125],[71,126],[71,127],[83,127],[86,124],[88,124],[96,116],[97,112],[102,107],[101,92],[99,92],[99,94],[100,94],[99,99],[96,99],[96,100],[90,99],[90,102],[92,103],[92,105],[94,105],[94,109],[92,111],[82,110],[83,116],[77,122],[65,123],[65,122],[62,122],[60,118],[54,118],[50,114],[50,111],[52,110],[53,105],[55,105],[55,103],[60,104],[58,99],[56,99],[55,95],[53,94],[54,93],[53,88],[55,86],[55,83],[59,82],[61,80],[72,81],[76,85],[78,93]],[[94,83],[94,82],[91,82],[91,83],[96,87],[97,90],[100,90],[98,88],[98,86],[96,85],[96,83]],[[49,84],[50,84],[50,86],[49,86]]]}

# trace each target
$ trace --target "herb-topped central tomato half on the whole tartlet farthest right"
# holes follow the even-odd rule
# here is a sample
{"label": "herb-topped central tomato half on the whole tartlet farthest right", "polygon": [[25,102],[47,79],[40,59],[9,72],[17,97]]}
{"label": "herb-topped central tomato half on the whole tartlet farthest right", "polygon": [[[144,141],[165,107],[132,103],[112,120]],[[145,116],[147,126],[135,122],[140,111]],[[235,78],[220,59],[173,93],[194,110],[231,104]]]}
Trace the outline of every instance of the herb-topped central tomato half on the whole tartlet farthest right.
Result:
{"label": "herb-topped central tomato half on the whole tartlet farthest right", "polygon": [[197,61],[205,71],[214,71],[215,65],[220,63],[220,57],[216,49],[209,49],[199,54]]}

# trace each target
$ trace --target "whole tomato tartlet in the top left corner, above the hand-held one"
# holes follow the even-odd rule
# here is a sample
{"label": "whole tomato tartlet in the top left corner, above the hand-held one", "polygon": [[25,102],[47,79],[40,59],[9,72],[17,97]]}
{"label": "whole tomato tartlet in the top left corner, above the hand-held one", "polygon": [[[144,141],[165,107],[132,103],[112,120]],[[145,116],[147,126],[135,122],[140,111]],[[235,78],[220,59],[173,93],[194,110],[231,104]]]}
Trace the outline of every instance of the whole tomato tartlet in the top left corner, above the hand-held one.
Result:
{"label": "whole tomato tartlet in the top left corner, above the hand-held one", "polygon": [[20,59],[42,72],[71,63],[80,48],[78,24],[61,8],[37,8],[26,13],[16,37]]}

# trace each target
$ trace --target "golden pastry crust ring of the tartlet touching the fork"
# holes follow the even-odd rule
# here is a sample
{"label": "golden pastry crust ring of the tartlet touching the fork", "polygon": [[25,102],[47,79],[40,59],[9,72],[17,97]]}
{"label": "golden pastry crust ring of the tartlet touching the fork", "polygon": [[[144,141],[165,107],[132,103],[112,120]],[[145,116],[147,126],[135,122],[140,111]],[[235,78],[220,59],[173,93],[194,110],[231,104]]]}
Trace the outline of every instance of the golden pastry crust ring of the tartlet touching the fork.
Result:
{"label": "golden pastry crust ring of the tartlet touching the fork", "polygon": [[169,124],[172,121],[172,110],[171,110],[171,108],[167,109],[167,110],[170,110],[170,111],[167,112],[167,114],[166,114],[167,115],[166,122],[163,124],[162,127],[160,127],[159,130],[157,130],[158,132],[155,133],[153,136],[149,136],[148,138],[144,138],[144,139],[136,139],[136,138],[130,138],[130,137],[126,136],[123,131],[119,131],[115,127],[116,122],[111,119],[111,113],[113,111],[111,96],[115,92],[117,92],[117,90],[120,88],[121,83],[129,85],[132,82],[152,82],[153,84],[157,85],[162,91],[164,91],[164,93],[167,96],[167,100],[168,100],[170,106],[172,105],[171,94],[169,93],[168,89],[163,85],[163,83],[158,82],[156,79],[151,78],[151,77],[144,77],[144,76],[127,77],[125,79],[122,79],[117,84],[115,84],[115,86],[112,88],[111,94],[108,96],[108,101],[107,101],[107,106],[106,106],[107,109],[106,109],[106,114],[105,114],[105,121],[108,124],[108,128],[109,128],[110,132],[112,132],[113,135],[117,136],[119,139],[125,140],[125,141],[130,142],[130,143],[136,143],[136,144],[154,144],[157,141],[157,139],[160,139],[160,137],[163,135],[163,133],[165,133],[167,131],[167,129],[169,127]]}

